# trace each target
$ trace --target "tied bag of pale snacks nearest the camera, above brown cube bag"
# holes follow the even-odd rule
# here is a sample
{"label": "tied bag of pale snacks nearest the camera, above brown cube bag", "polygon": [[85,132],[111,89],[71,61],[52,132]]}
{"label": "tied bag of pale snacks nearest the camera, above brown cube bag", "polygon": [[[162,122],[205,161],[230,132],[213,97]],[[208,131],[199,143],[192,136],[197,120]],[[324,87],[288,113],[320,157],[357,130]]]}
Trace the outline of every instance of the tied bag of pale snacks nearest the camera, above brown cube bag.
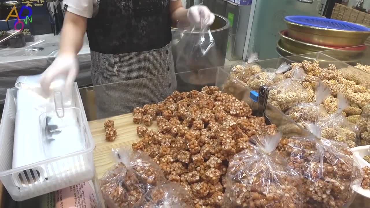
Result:
{"label": "tied bag of pale snacks nearest the camera, above brown cube bag", "polygon": [[342,93],[337,94],[337,112],[319,119],[322,137],[328,140],[345,142],[350,148],[360,144],[360,130],[357,125],[349,122],[342,111],[349,106]]}

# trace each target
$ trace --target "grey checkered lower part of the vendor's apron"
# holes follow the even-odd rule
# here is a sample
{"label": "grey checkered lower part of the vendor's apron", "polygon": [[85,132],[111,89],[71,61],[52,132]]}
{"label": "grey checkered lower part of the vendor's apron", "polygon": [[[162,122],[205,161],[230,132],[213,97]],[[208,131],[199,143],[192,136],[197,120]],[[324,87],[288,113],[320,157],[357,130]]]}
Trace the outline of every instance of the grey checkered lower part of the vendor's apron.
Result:
{"label": "grey checkered lower part of the vendor's apron", "polygon": [[150,51],[102,54],[91,51],[97,117],[130,113],[164,100],[176,88],[171,43]]}

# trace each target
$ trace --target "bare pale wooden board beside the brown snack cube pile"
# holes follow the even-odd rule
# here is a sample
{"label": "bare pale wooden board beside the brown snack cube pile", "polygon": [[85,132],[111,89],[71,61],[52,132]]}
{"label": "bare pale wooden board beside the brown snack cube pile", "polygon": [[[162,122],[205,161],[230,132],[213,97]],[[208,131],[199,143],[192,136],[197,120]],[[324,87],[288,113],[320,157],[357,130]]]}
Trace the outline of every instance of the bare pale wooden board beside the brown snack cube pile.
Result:
{"label": "bare pale wooden board beside the brown snack cube pile", "polygon": [[[113,142],[105,140],[104,122],[106,120],[114,121],[114,128],[117,129],[117,138]],[[111,149],[131,145],[140,140],[136,133],[137,124],[132,122],[132,114],[118,115],[102,120],[95,120],[89,122],[92,138],[95,141],[94,149],[94,163],[98,174],[98,178],[114,165],[111,157]],[[154,121],[151,127],[157,131],[157,124]]]}

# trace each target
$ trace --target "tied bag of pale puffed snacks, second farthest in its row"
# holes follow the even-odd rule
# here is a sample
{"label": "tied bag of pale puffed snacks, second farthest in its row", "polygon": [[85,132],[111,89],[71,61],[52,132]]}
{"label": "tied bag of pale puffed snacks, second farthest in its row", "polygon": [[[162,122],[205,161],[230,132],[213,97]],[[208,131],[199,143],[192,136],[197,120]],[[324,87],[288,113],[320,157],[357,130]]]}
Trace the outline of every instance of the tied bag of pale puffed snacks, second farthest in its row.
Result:
{"label": "tied bag of pale puffed snacks, second farthest in its row", "polygon": [[253,76],[243,76],[243,81],[245,81],[246,85],[251,90],[258,90],[261,85],[266,85],[269,87],[272,84],[283,81],[283,73],[289,69],[290,65],[284,62],[277,69],[266,68]]}

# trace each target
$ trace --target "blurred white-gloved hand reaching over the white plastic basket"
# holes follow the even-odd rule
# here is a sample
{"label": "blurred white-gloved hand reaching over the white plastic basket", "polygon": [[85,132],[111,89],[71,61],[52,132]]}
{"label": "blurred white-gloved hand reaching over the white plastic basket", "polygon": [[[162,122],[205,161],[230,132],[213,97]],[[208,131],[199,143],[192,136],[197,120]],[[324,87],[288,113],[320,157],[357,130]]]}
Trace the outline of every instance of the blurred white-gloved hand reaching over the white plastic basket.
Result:
{"label": "blurred white-gloved hand reaching over the white plastic basket", "polygon": [[46,96],[53,93],[50,84],[56,79],[64,79],[64,86],[61,90],[69,91],[78,74],[78,60],[74,55],[60,55],[41,74],[40,85]]}

